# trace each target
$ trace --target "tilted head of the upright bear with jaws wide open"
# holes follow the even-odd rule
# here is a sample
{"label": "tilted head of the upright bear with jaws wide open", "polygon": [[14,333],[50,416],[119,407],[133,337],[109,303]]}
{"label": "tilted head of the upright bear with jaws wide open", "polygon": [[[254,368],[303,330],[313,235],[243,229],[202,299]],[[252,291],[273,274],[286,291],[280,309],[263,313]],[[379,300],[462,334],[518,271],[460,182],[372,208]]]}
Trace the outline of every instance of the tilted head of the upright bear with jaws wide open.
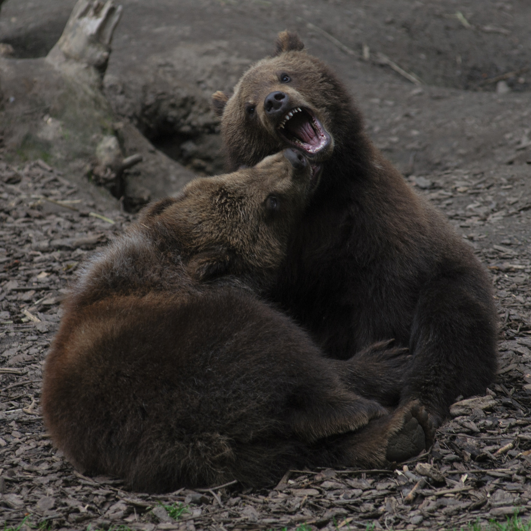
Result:
{"label": "tilted head of the upright bear with jaws wide open", "polygon": [[212,96],[229,168],[253,165],[286,147],[314,166],[331,157],[350,98],[335,74],[303,47],[295,34],[280,33],[276,54],[251,66],[232,96]]}

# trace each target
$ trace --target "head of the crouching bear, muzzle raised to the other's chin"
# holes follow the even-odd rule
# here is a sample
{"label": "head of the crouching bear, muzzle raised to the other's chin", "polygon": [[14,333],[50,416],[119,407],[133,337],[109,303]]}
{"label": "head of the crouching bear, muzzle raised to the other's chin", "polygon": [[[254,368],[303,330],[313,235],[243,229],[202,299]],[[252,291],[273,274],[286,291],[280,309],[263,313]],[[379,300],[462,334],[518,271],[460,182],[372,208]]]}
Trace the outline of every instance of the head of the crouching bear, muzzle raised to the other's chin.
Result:
{"label": "head of the crouching bear, muzzle raised to the other's chin", "polygon": [[194,179],[148,207],[140,225],[155,227],[161,251],[177,250],[192,277],[238,275],[260,285],[280,267],[319,176],[285,149],[251,168]]}

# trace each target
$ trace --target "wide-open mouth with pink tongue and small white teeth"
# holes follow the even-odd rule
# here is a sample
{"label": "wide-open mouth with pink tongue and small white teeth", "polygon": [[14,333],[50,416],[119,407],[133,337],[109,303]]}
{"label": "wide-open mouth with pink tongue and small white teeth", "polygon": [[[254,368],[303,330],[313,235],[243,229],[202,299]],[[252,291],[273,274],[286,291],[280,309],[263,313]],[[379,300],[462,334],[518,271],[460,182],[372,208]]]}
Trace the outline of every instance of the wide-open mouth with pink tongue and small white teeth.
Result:
{"label": "wide-open mouth with pink tongue and small white teeth", "polygon": [[289,144],[315,155],[330,143],[330,135],[309,109],[294,107],[278,126],[278,132]]}

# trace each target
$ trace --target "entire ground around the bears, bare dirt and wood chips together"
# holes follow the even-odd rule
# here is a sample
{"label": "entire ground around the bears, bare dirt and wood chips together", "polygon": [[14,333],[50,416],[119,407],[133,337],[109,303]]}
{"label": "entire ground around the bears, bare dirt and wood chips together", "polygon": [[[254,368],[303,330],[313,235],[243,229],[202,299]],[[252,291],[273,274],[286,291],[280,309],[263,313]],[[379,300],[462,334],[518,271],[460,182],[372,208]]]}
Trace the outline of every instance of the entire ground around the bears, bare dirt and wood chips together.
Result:
{"label": "entire ground around the bears, bare dirt and wood chips together", "polygon": [[[21,59],[46,55],[74,4],[2,3],[0,42],[13,48],[8,60],[23,68]],[[25,524],[53,529],[222,531],[303,524],[440,529],[504,520],[515,508],[527,520],[531,5],[526,0],[124,0],[122,5],[105,95],[117,121],[138,127],[152,142],[150,149],[164,152],[183,172],[221,170],[210,94],[229,90],[247,65],[269,54],[278,31],[297,30],[309,51],[345,81],[376,145],[418,193],[446,213],[492,273],[501,321],[500,374],[485,397],[452,407],[452,418],[429,452],[390,470],[293,471],[272,490],[242,492],[229,485],[165,496],[126,492],[116,479],[76,473],[42,426],[42,362],[68,281],[84,256],[135,214],[87,181],[87,160],[66,164],[51,151],[48,157],[46,149],[37,159],[33,151],[10,144],[12,130],[2,113],[13,102],[0,68],[0,526],[16,528],[30,515]],[[390,62],[418,81],[406,79]],[[125,145],[125,155],[137,148]],[[143,168],[135,166],[126,178],[141,179],[149,169]],[[145,200],[160,193],[153,187]],[[177,521],[163,507],[174,503],[187,507]]]}

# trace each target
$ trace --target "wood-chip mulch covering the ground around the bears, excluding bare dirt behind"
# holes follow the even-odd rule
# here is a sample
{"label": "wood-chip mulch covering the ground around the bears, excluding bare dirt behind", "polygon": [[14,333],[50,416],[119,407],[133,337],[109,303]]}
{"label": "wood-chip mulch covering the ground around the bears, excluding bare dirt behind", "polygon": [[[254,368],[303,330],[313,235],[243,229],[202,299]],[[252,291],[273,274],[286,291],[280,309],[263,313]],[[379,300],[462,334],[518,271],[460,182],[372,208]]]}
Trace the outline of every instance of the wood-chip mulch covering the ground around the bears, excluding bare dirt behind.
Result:
{"label": "wood-chip mulch covering the ground around the bears, excluding bare dirt behind", "polygon": [[[486,164],[486,163],[485,163]],[[293,470],[272,490],[237,485],[163,496],[76,473],[42,425],[41,369],[59,302],[85,255],[133,216],[102,212],[42,161],[0,159],[0,528],[459,528],[531,509],[531,183],[526,166],[409,177],[492,272],[500,373],[452,406],[429,452],[389,470]],[[527,167],[528,168],[528,167]],[[108,218],[108,219],[105,219]],[[112,224],[110,221],[113,221]],[[176,504],[176,506],[175,506]],[[178,520],[164,506],[184,504]]]}

